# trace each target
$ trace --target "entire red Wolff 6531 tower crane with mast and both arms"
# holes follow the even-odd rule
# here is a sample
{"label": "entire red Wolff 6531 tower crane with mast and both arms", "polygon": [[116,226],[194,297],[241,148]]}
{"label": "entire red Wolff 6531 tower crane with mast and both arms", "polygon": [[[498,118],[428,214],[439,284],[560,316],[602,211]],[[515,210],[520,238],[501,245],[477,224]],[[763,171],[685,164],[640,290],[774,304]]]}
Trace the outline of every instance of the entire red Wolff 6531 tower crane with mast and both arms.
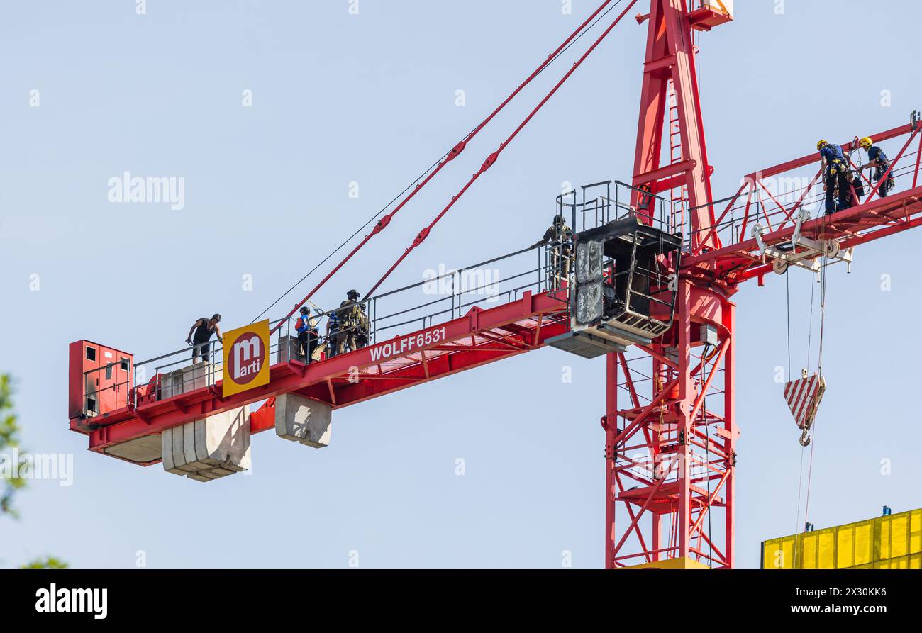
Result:
{"label": "entire red Wolff 6531 tower crane with mast and both arms", "polygon": [[[637,0],[627,3],[613,18],[391,270],[427,239],[438,220],[491,168],[502,150],[636,4]],[[602,3],[497,111],[594,27],[593,20],[603,20],[619,5],[621,0]],[[904,126],[872,135],[877,142],[904,141],[891,161],[890,176],[905,186],[898,186],[899,191],[887,197],[877,195],[880,183],[875,186],[866,181],[869,195],[863,202],[859,199],[859,204],[833,216],[810,217],[804,207],[816,199],[814,185],[822,178],[820,158],[811,154],[754,172],[742,180],[735,194],[715,199],[693,34],[730,22],[732,8],[727,0],[651,0],[649,12],[637,17],[647,25],[648,35],[634,172],[631,182],[601,183],[604,194],[594,195],[599,185],[592,185],[583,188],[582,200],[577,193],[572,199],[559,198],[561,213],[572,212],[573,229],[578,229],[580,218],[583,224],[574,240],[576,270],[566,280],[555,282],[553,275],[547,275],[552,249],[535,246],[500,258],[507,264],[521,263],[524,272],[515,275],[514,285],[497,290],[491,304],[466,302],[465,288],[458,286],[464,271],[373,295],[361,299],[372,322],[371,344],[308,364],[290,348],[289,317],[301,301],[288,316],[269,324],[278,339],[264,350],[266,381],[237,393],[222,389],[228,380],[227,366],[219,369],[219,361],[205,364],[202,372],[193,368],[189,383],[178,388],[171,383],[168,389],[171,376],[177,371],[184,376],[183,371],[189,369],[170,369],[181,364],[187,352],[136,364],[130,354],[79,341],[70,349],[70,428],[89,436],[91,451],[149,465],[164,459],[162,436],[166,431],[247,404],[265,402],[250,416],[249,433],[273,427],[278,431],[277,396],[297,394],[335,411],[547,345],[585,356],[604,355],[608,374],[601,419],[606,438],[606,568],[732,568],[739,427],[735,305],[731,299],[739,284],[756,279],[762,285],[766,275],[785,274],[790,267],[821,275],[828,265],[850,264],[857,245],[922,223],[918,183],[922,143],[910,150],[914,141],[922,139],[915,114]],[[490,123],[497,111],[472,135]],[[448,152],[434,173],[460,154],[472,135]],[[856,146],[849,140],[843,147]],[[794,204],[783,204],[766,185],[769,179],[811,165],[817,167],[817,174],[801,188]],[[333,272],[386,228],[390,217],[434,173]],[[586,217],[593,216],[595,224],[587,223]],[[576,331],[577,306],[583,304],[571,289],[591,269],[585,264],[596,256],[591,243],[601,245],[599,261],[610,259],[608,272],[600,272],[599,278],[612,287],[617,286],[619,262],[624,261],[619,253],[628,252],[631,262],[631,276],[622,288],[627,299],[621,300],[621,316],[609,322],[597,320],[593,331],[598,335]],[[642,252],[646,254],[638,254]],[[639,287],[637,280],[644,275],[634,273],[644,266],[660,272],[646,275]],[[452,283],[448,296],[421,305],[411,303],[409,298],[425,284],[442,282]],[[598,300],[601,305],[602,299]],[[637,311],[644,314],[634,314]],[[577,339],[577,334],[588,335]],[[269,360],[270,347],[278,354],[275,362]],[[138,368],[142,366],[155,368],[149,381],[147,377],[140,380]]]}

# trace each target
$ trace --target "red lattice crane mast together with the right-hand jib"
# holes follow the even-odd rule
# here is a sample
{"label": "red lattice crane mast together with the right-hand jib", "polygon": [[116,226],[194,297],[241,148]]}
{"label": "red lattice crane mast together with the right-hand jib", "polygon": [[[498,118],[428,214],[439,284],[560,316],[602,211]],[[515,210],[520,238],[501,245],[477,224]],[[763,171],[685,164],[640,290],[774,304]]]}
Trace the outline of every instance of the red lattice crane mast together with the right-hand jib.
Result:
{"label": "red lattice crane mast together with the right-hand jib", "polygon": [[[605,564],[608,569],[667,560],[695,560],[713,568],[734,565],[736,496],[735,305],[739,283],[773,267],[747,229],[762,225],[764,245],[789,242],[795,231],[814,240],[833,240],[837,248],[917,226],[922,219],[919,157],[910,166],[909,191],[873,200],[833,217],[796,228],[795,218],[822,171],[803,187],[790,208],[780,203],[765,181],[819,163],[816,154],[751,174],[717,215],[711,191],[713,172],[707,158],[703,116],[695,69],[695,29],[728,21],[719,10],[689,10],[684,0],[652,0],[644,84],[632,184],[633,205],[650,208],[645,192],[687,192],[684,226],[689,253],[680,271],[676,319],[668,334],[652,346],[638,346],[638,358],[610,355],[607,362]],[[675,102],[669,99],[674,95]],[[670,112],[670,105],[671,112]],[[676,112],[678,110],[678,113]],[[667,117],[667,114],[669,116]],[[663,125],[670,122],[668,134]],[[678,123],[679,130],[676,130]],[[908,136],[892,170],[918,135],[913,123],[875,135],[881,142]],[[676,159],[675,136],[681,136]],[[664,142],[668,142],[664,146]],[[661,166],[664,147],[672,158]],[[845,147],[853,147],[846,143]],[[745,200],[745,205],[742,204]],[[724,201],[727,202],[727,201]],[[673,211],[675,217],[678,210]],[[632,354],[632,352],[629,352]],[[713,516],[712,516],[713,515]]]}

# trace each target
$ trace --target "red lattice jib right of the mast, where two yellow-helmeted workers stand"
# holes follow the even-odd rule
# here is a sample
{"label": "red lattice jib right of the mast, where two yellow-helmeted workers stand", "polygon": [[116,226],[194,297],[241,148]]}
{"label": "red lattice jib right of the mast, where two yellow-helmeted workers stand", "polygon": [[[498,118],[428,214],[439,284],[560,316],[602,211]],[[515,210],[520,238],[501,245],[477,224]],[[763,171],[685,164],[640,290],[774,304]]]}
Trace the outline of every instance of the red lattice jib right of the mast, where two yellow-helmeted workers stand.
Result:
{"label": "red lattice jib right of the mast, where two yellow-helmeted workers stand", "polygon": [[[864,202],[858,197],[857,205],[830,216],[822,215],[822,171],[812,178],[801,171],[815,167],[818,154],[750,174],[743,179],[736,195],[711,205],[729,202],[713,225],[697,229],[716,235],[719,246],[686,257],[683,269],[690,274],[719,278],[729,286],[752,278],[759,279],[761,284],[769,273],[783,274],[788,264],[807,264],[805,267],[818,271],[821,265],[818,260],[823,257],[828,258],[827,262],[850,263],[851,249],[857,245],[919,226],[922,224],[920,133],[922,123],[914,113],[912,123],[873,135],[876,143],[904,141],[891,161],[894,191],[887,197],[879,197],[876,182],[862,174]],[[845,147],[847,153],[852,146],[845,144]],[[907,151],[910,147],[914,151]],[[858,166],[853,162],[853,167]],[[790,182],[805,184],[779,191],[781,183]],[[810,213],[811,207],[818,210]]]}

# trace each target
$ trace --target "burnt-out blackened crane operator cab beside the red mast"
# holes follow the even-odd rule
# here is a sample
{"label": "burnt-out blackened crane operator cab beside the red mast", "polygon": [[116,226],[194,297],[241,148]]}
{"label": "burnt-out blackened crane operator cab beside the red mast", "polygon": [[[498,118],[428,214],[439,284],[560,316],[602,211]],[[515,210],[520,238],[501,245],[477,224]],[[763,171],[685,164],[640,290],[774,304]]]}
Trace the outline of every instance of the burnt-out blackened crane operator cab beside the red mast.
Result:
{"label": "burnt-out blackened crane operator cab beside the red mast", "polygon": [[672,324],[682,238],[635,217],[573,236],[570,332],[548,345],[583,358],[649,345]]}

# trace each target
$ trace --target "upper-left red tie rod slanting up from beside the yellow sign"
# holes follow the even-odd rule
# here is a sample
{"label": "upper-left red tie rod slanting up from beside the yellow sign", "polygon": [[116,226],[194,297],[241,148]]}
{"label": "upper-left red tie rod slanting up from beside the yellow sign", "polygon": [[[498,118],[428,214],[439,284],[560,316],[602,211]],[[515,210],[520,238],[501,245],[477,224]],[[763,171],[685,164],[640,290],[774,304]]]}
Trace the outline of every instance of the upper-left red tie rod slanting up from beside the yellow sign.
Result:
{"label": "upper-left red tie rod slanting up from beside the yellow sign", "polygon": [[[611,5],[612,2],[614,2],[615,4],[612,5],[612,6],[609,6],[609,5]],[[325,283],[326,283],[327,281],[329,281],[329,279],[330,279],[333,275],[336,275],[337,272],[338,272],[345,264],[347,264],[347,263],[349,262],[349,260],[351,260],[352,257],[353,257],[357,252],[359,252],[359,251],[361,250],[361,248],[362,248],[365,244],[367,244],[367,243],[369,242],[369,240],[372,240],[372,238],[373,238],[375,235],[377,235],[378,233],[380,233],[381,231],[383,231],[384,229],[386,229],[386,228],[387,228],[387,225],[390,224],[390,221],[396,216],[396,214],[397,214],[401,209],[403,209],[403,207],[406,206],[406,205],[409,203],[410,200],[412,200],[414,197],[416,197],[416,194],[417,194],[417,193],[420,193],[420,191],[423,189],[423,187],[425,187],[429,182],[431,182],[431,180],[432,180],[433,178],[435,178],[435,176],[436,176],[441,170],[443,170],[443,168],[445,167],[445,165],[447,165],[447,164],[450,163],[452,160],[454,160],[455,158],[457,158],[457,157],[461,154],[461,152],[463,152],[463,151],[465,150],[465,147],[467,147],[467,143],[469,143],[476,135],[478,135],[479,132],[480,132],[484,127],[486,127],[487,124],[489,124],[489,123],[497,116],[497,114],[499,114],[499,113],[500,113],[500,112],[501,112],[501,111],[502,111],[512,100],[514,100],[514,98],[515,98],[516,96],[518,96],[518,94],[519,94],[523,89],[526,88],[526,86],[528,86],[528,84],[530,84],[538,75],[540,75],[550,64],[552,64],[553,62],[555,62],[555,61],[557,60],[557,58],[560,57],[562,53],[565,53],[574,43],[576,43],[576,41],[578,41],[579,39],[581,39],[581,38],[583,37],[583,35],[585,35],[585,32],[586,32],[588,29],[592,29],[593,27],[595,27],[596,24],[598,23],[598,21],[601,20],[602,18],[604,18],[606,15],[608,15],[608,13],[609,13],[609,11],[610,11],[611,9],[613,9],[615,6],[620,5],[621,2],[622,2],[622,0],[605,0],[600,6],[598,6],[598,8],[596,9],[596,11],[594,11],[593,14],[592,14],[591,16],[589,16],[588,18],[586,18],[585,21],[584,21],[576,30],[573,31],[573,33],[570,35],[570,37],[568,37],[566,40],[563,41],[563,43],[561,43],[561,45],[557,48],[557,50],[555,50],[553,53],[550,53],[550,54],[548,55],[547,59],[545,59],[544,62],[542,62],[540,65],[538,65],[538,68],[535,70],[535,72],[533,72],[531,75],[527,76],[527,77],[526,77],[526,80],[523,81],[523,82],[519,85],[518,88],[515,88],[514,91],[513,91],[512,93],[510,93],[510,95],[509,95],[508,97],[506,97],[506,99],[503,100],[502,103],[501,103],[494,111],[492,111],[491,114],[490,114],[486,119],[484,119],[482,122],[480,122],[479,125],[478,125],[477,127],[475,127],[471,132],[469,132],[469,133],[467,134],[467,136],[465,136],[464,139],[461,140],[461,142],[459,142],[457,145],[455,145],[455,147],[453,147],[451,150],[449,150],[447,153],[445,153],[445,154],[443,155],[442,158],[439,158],[438,161],[436,161],[435,163],[433,163],[432,167],[430,167],[428,170],[424,171],[423,174],[420,176],[420,178],[417,178],[414,182],[411,182],[411,183],[408,185],[407,189],[405,189],[403,192],[401,192],[400,194],[398,194],[398,195],[396,196],[396,198],[394,198],[394,200],[392,200],[390,203],[388,203],[387,205],[385,205],[384,208],[382,208],[381,211],[379,211],[377,214],[375,214],[375,215],[372,217],[372,219],[370,219],[368,222],[366,222],[366,223],[361,227],[361,229],[359,229],[358,231],[356,231],[355,233],[353,233],[352,236],[349,237],[349,240],[346,240],[346,241],[343,242],[339,247],[337,247],[337,249],[336,249],[334,252],[331,252],[331,253],[325,258],[325,260],[324,260],[323,262],[321,262],[320,264],[317,264],[317,265],[313,268],[313,270],[312,270],[310,273],[308,273],[307,275],[304,275],[304,277],[301,278],[301,281],[299,281],[297,284],[295,284],[293,287],[291,287],[284,295],[282,295],[281,297],[279,297],[278,299],[276,299],[276,300],[273,302],[273,304],[272,304],[271,306],[269,306],[269,308],[266,309],[266,311],[269,311],[273,306],[275,306],[275,305],[278,303],[278,301],[280,301],[280,300],[283,299],[286,295],[288,295],[288,294],[291,292],[291,290],[293,290],[295,287],[298,287],[299,285],[301,285],[301,282],[303,282],[304,279],[307,279],[308,276],[310,276],[311,274],[313,274],[313,271],[315,271],[315,270],[316,270],[317,268],[319,268],[321,265],[325,264],[325,262],[326,262],[330,257],[332,257],[337,251],[339,251],[339,249],[343,248],[343,246],[345,246],[347,243],[349,243],[349,241],[352,240],[356,235],[358,235],[358,234],[361,232],[361,230],[365,229],[365,227],[367,227],[369,224],[371,224],[372,221],[374,220],[374,218],[380,216],[382,213],[384,213],[384,210],[385,210],[385,209],[387,209],[388,207],[390,207],[390,205],[393,205],[394,202],[396,202],[397,198],[399,198],[399,197],[401,197],[402,195],[404,195],[404,193],[407,193],[411,188],[413,188],[413,185],[414,185],[414,184],[416,185],[416,187],[413,189],[413,191],[410,192],[409,195],[408,195],[407,197],[405,197],[405,198],[400,202],[399,205],[396,205],[396,207],[395,207],[395,209],[394,209],[393,211],[391,211],[389,214],[387,214],[386,216],[382,217],[381,220],[378,221],[378,223],[374,226],[374,229],[372,229],[372,232],[371,232],[371,233],[369,233],[368,235],[366,235],[365,238],[364,238],[363,240],[361,240],[361,242],[359,242],[359,244],[358,244],[354,249],[352,249],[352,251],[349,252],[349,254],[346,255],[346,257],[344,257],[343,260],[342,260],[339,264],[337,264],[337,265],[333,268],[333,270],[331,270],[323,279],[321,279],[320,283],[317,284],[317,286],[314,287],[313,290],[311,290],[311,291],[307,294],[307,296],[306,296],[304,299],[301,299],[301,301],[299,301],[298,304],[295,305],[295,307],[286,315],[285,319],[283,319],[281,322],[278,322],[278,324],[272,329],[272,332],[274,333],[276,330],[278,330],[278,328],[280,328],[280,327],[282,326],[282,323],[288,321],[288,319],[290,319],[290,317],[291,317],[293,314],[295,314],[295,312],[297,312],[297,311],[301,308],[301,306],[304,305],[304,303],[305,303],[308,299],[311,299],[311,297],[313,297],[314,293],[316,293],[317,290],[319,290],[321,287],[323,287],[323,286],[325,285]],[[632,3],[632,4],[633,4],[633,3]],[[609,6],[609,8],[608,8],[608,10],[605,10],[607,6]],[[603,13],[603,11],[604,11],[604,13]],[[601,14],[601,16],[600,16],[599,14]],[[590,25],[590,23],[593,21],[593,19],[596,19],[597,17],[598,17],[598,19],[596,20],[596,22],[595,22],[595,23],[592,23],[592,24]],[[587,29],[587,27],[588,27],[588,29]],[[427,175],[427,174],[428,174],[428,175]],[[420,182],[420,181],[422,181],[422,182]],[[266,311],[263,311],[263,313],[260,314],[260,317],[263,316],[263,314],[266,314]],[[258,319],[258,318],[259,318],[259,317],[257,317],[257,319]],[[254,319],[254,321],[255,321],[255,319]]]}

